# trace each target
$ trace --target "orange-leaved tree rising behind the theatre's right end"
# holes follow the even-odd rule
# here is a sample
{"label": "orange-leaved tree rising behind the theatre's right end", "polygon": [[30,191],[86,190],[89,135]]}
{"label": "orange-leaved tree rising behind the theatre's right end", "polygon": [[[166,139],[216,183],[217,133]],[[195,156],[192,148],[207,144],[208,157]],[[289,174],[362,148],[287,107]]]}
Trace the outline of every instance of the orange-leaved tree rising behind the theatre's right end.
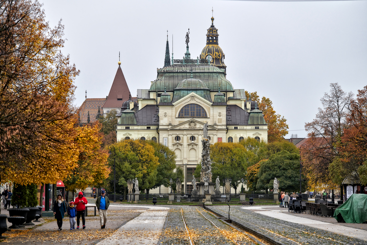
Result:
{"label": "orange-leaved tree rising behind the theatre's right end", "polygon": [[264,114],[265,122],[268,124],[268,142],[274,142],[282,140],[284,136],[288,134],[288,124],[287,120],[276,114],[272,106],[272,101],[269,98],[263,97],[260,100],[260,97],[257,95],[257,92],[249,93],[245,91],[246,98],[251,98],[251,100],[256,101],[259,106],[259,109]]}

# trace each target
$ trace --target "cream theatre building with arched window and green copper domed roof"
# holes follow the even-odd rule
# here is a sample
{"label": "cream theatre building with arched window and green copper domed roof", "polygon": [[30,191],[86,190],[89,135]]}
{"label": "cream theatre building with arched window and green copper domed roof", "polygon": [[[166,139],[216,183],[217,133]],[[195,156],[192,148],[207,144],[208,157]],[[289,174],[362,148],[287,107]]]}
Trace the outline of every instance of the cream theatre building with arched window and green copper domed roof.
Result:
{"label": "cream theatre building with arched window and green copper domed roof", "polygon": [[268,140],[268,125],[257,104],[226,79],[224,53],[213,21],[200,58],[191,59],[187,43],[185,59],[172,57],[167,64],[166,50],[165,67],[157,70],[150,88],[138,90],[138,103],[124,102],[117,115],[117,140],[154,140],[170,147],[176,153],[176,164],[187,164],[188,184],[193,168],[200,163],[205,123],[210,144],[246,137]]}

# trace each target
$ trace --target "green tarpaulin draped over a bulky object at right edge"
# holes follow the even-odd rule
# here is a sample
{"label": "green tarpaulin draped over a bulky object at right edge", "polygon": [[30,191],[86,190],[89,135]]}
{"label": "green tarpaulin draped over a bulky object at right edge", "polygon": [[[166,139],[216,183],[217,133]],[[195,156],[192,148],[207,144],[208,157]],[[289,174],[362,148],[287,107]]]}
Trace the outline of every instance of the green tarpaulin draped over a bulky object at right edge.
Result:
{"label": "green tarpaulin draped over a bulky object at right edge", "polygon": [[353,194],[334,212],[338,222],[365,223],[367,222],[367,195]]}

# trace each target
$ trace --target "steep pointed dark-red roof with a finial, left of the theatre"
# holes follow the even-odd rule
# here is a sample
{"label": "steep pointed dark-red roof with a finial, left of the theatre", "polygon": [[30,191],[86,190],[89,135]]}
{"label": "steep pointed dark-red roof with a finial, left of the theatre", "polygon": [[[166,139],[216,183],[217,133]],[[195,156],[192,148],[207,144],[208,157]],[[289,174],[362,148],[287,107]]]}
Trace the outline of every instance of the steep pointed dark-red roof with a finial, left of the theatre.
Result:
{"label": "steep pointed dark-red roof with a finial, left of the theatre", "polygon": [[125,77],[123,76],[121,67],[119,66],[103,108],[121,108],[122,103],[129,99],[129,95],[129,87],[127,86]]}

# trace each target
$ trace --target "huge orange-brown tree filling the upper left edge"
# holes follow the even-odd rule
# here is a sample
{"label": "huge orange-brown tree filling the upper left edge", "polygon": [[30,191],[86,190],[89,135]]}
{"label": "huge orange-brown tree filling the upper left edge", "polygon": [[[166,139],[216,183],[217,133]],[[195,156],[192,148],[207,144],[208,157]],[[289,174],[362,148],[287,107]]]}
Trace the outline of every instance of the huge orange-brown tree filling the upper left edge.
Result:
{"label": "huge orange-brown tree filling the upper left edge", "polygon": [[77,160],[72,100],[79,73],[36,0],[0,1],[0,178],[55,183]]}

